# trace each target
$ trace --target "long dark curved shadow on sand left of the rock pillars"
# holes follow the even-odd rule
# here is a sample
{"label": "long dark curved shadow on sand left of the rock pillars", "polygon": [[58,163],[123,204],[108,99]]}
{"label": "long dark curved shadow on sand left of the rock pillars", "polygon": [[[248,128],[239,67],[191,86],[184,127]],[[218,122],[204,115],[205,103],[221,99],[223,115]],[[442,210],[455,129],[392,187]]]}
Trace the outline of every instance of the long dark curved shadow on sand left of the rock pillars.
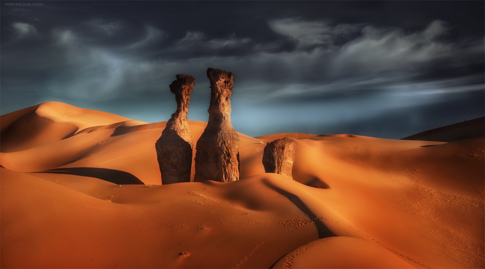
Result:
{"label": "long dark curved shadow on sand left of the rock pillars", "polygon": [[57,168],[43,172],[35,173],[49,173],[49,174],[73,174],[81,176],[96,177],[105,181],[112,182],[118,185],[124,184],[144,184],[136,176],[129,174],[128,172],[108,169],[108,168],[95,168],[95,167],[69,167],[69,168]]}

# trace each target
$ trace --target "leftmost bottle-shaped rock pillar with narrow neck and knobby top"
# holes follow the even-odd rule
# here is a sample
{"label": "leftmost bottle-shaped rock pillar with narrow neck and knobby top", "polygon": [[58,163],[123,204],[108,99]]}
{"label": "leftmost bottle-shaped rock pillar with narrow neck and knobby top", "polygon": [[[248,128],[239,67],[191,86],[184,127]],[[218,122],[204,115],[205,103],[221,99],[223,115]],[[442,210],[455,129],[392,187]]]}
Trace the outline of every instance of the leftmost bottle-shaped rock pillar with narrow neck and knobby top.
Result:
{"label": "leftmost bottle-shaped rock pillar with narrow neck and knobby top", "polygon": [[189,75],[176,77],[177,80],[170,84],[170,91],[175,94],[177,111],[172,114],[162,136],[155,143],[162,184],[190,182],[192,167],[194,142],[187,123],[187,112],[195,79]]}

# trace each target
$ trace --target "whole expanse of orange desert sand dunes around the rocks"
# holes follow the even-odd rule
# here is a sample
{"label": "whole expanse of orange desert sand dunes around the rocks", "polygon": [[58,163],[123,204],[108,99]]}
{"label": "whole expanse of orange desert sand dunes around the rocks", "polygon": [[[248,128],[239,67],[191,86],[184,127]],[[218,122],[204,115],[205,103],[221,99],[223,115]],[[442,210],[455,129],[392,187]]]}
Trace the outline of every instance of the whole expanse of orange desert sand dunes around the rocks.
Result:
{"label": "whole expanse of orange desert sand dunes around the rocks", "polygon": [[[166,122],[35,105],[0,118],[0,267],[484,268],[483,123],[453,142],[238,133],[240,180],[161,185]],[[282,137],[293,180],[261,162]]]}

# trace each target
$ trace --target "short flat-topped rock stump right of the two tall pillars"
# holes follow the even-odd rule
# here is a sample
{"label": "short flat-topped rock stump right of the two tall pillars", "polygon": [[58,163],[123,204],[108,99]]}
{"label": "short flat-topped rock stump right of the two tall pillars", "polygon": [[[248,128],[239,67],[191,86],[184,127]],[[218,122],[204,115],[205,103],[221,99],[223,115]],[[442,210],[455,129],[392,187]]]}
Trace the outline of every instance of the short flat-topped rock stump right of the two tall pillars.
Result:
{"label": "short flat-topped rock stump right of the two tall pillars", "polygon": [[295,158],[296,141],[282,138],[268,142],[264,147],[263,166],[266,173],[276,173],[291,176]]}

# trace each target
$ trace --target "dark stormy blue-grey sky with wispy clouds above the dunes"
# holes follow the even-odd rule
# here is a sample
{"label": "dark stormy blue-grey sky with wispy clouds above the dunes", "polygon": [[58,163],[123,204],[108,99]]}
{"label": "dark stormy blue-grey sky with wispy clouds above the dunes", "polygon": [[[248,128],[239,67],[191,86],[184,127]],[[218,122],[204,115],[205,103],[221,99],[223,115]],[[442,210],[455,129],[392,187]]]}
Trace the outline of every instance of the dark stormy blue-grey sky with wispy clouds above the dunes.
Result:
{"label": "dark stormy blue-grey sky with wispy clouds above the dunes", "polygon": [[[15,5],[11,5],[14,3]],[[259,136],[400,139],[484,116],[484,1],[1,1],[0,112],[46,101],[166,121],[168,85],[235,74],[232,125]]]}

